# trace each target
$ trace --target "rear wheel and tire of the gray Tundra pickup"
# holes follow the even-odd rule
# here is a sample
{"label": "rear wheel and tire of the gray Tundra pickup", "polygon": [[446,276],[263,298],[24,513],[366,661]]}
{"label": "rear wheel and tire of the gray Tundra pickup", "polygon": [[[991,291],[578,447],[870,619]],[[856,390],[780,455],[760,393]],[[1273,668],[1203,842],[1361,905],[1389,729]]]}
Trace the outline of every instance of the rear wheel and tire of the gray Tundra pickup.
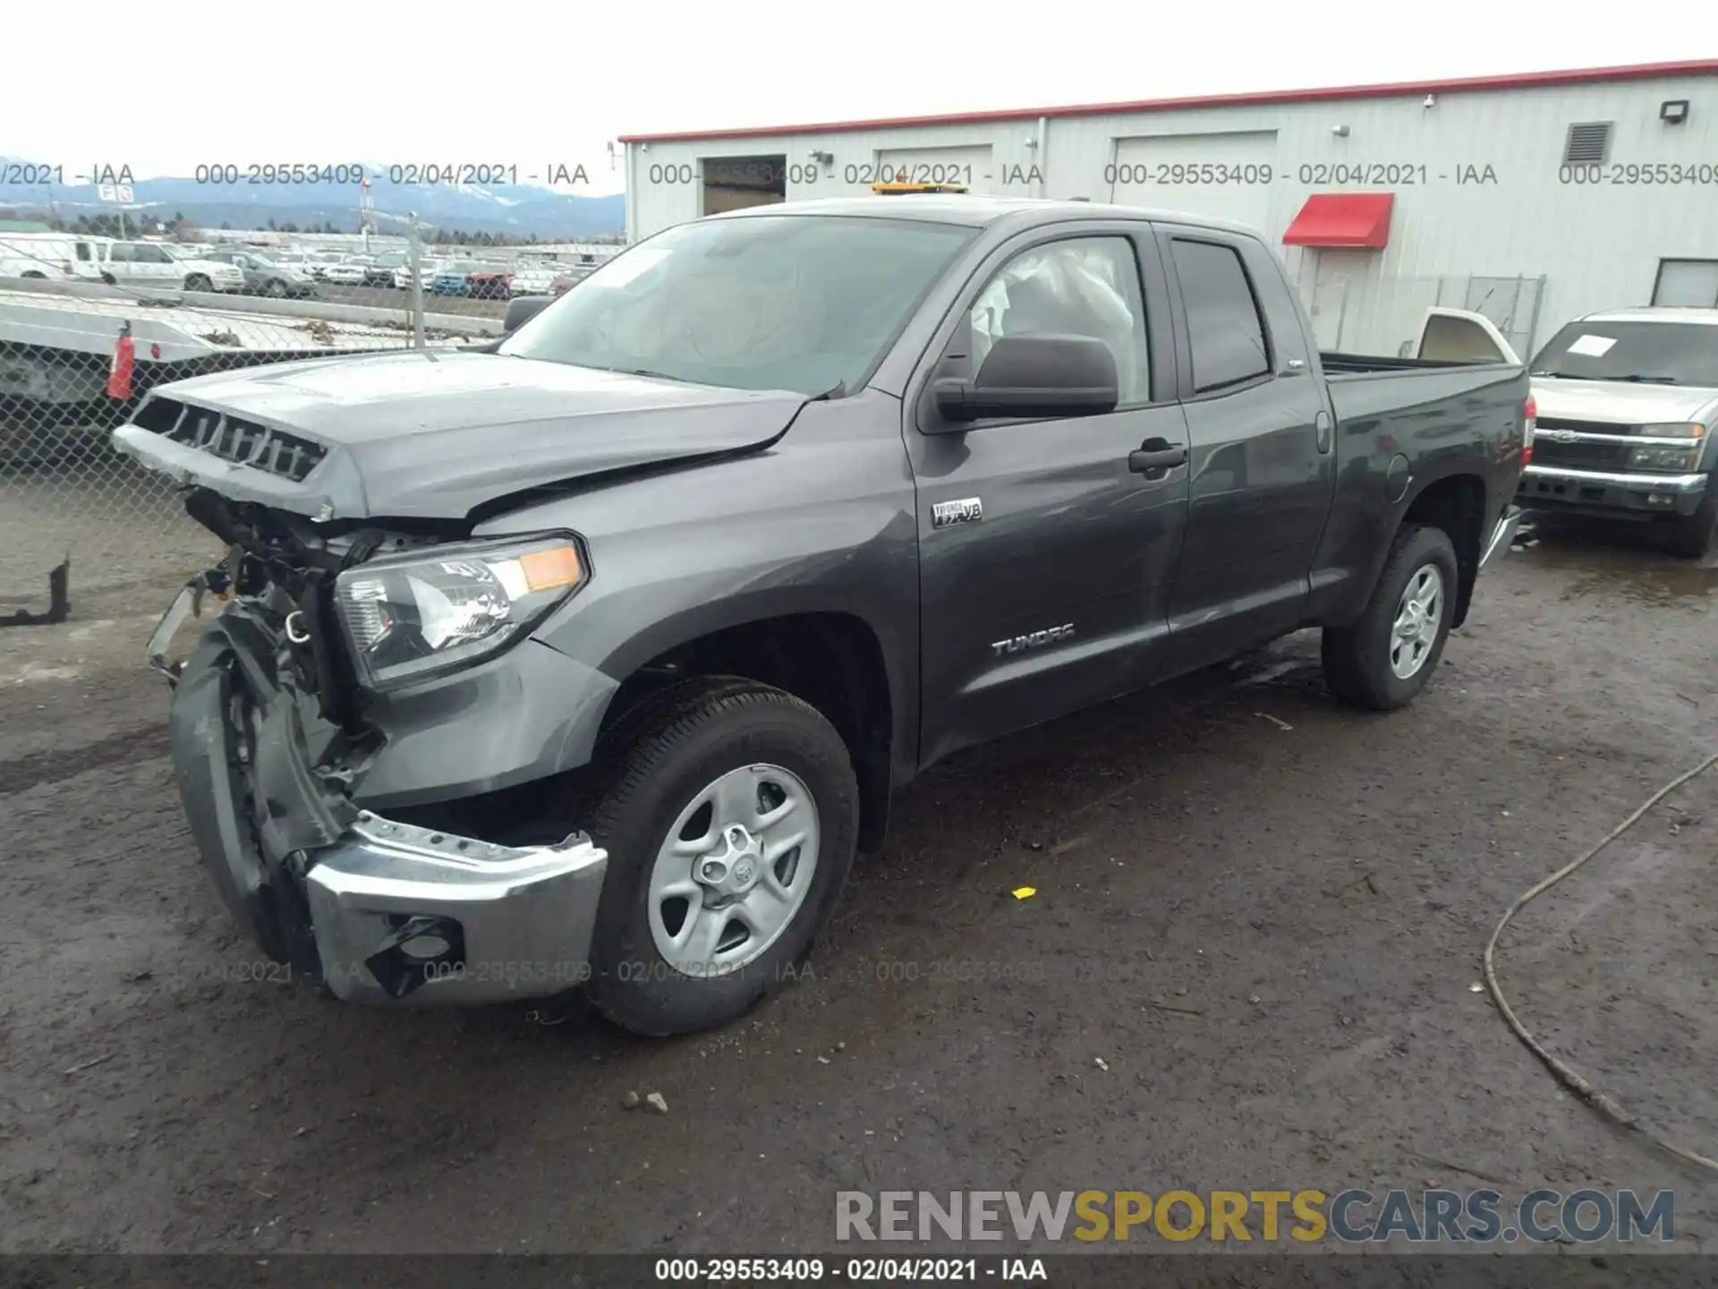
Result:
{"label": "rear wheel and tire of the gray Tundra pickup", "polygon": [[1350,627],[1326,627],[1325,681],[1345,703],[1393,712],[1426,687],[1455,619],[1455,547],[1441,528],[1404,528]]}

